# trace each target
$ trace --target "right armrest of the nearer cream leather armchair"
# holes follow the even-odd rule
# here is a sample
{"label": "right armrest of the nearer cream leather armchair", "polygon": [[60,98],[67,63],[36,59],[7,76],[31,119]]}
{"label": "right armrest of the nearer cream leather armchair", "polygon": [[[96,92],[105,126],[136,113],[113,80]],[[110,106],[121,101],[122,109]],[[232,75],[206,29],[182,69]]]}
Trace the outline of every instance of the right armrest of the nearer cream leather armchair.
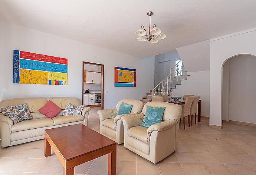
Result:
{"label": "right armrest of the nearer cream leather armchair", "polygon": [[177,124],[177,120],[170,119],[161,123],[157,123],[154,125],[151,125],[148,127],[147,136],[148,140],[150,140],[150,135],[153,131],[165,131],[166,129],[169,129]]}

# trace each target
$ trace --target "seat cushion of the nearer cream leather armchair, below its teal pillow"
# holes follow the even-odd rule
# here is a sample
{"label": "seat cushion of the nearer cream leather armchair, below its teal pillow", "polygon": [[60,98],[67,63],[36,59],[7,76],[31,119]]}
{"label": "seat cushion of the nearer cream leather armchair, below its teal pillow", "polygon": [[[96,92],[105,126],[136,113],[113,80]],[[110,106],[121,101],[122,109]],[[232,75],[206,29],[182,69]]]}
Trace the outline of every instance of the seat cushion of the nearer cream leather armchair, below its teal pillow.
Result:
{"label": "seat cushion of the nearer cream leather armchair, below its teal pillow", "polygon": [[135,127],[128,129],[127,134],[128,134],[128,136],[139,139],[144,143],[148,143],[147,130],[148,130],[148,128],[146,128],[146,127],[135,126]]}

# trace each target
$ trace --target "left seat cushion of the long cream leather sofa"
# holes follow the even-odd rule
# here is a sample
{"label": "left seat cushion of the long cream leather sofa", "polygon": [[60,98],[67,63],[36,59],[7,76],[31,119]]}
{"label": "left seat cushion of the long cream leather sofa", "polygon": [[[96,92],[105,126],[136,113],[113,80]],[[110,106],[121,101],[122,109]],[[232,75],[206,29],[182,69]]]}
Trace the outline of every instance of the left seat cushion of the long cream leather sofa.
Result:
{"label": "left seat cushion of the long cream leather sofa", "polygon": [[51,118],[32,119],[19,122],[12,126],[11,131],[24,131],[28,129],[42,128],[46,126],[53,126],[53,120]]}

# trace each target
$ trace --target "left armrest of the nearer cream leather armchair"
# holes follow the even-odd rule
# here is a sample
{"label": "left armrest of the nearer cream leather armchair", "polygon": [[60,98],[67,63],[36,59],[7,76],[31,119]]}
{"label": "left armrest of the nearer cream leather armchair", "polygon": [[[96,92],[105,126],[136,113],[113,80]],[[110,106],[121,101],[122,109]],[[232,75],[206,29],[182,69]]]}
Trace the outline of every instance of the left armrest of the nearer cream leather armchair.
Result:
{"label": "left armrest of the nearer cream leather armchair", "polygon": [[121,120],[124,123],[124,128],[128,130],[134,126],[140,126],[144,117],[145,116],[143,113],[130,114],[130,115],[122,116]]}

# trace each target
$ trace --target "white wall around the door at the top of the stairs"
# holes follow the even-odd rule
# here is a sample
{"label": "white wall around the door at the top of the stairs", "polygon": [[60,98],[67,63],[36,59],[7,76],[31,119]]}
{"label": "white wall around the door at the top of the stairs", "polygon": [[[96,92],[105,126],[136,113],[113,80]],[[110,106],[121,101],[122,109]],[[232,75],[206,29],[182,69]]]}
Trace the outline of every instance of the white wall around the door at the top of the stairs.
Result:
{"label": "white wall around the door at the top of the stairs", "polygon": [[170,67],[175,65],[175,59],[180,59],[178,52],[176,50],[168,53],[163,53],[155,56],[155,86],[158,85],[159,82],[159,63],[170,61]]}

